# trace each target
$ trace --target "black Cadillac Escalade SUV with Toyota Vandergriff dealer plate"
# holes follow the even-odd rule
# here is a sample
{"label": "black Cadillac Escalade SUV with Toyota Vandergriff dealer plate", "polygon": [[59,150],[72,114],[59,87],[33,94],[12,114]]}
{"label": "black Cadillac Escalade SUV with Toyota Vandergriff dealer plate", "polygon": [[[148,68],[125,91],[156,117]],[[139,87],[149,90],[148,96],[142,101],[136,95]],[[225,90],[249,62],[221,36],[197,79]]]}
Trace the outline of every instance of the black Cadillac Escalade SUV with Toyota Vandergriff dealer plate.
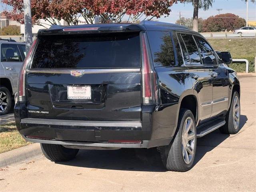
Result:
{"label": "black Cadillac Escalade SUV with Toyota Vandergriff dealer plate", "polygon": [[231,62],[175,24],[52,26],[20,72],[16,126],[52,161],[79,149],[157,147],[166,169],[186,171],[197,137],[239,130]]}

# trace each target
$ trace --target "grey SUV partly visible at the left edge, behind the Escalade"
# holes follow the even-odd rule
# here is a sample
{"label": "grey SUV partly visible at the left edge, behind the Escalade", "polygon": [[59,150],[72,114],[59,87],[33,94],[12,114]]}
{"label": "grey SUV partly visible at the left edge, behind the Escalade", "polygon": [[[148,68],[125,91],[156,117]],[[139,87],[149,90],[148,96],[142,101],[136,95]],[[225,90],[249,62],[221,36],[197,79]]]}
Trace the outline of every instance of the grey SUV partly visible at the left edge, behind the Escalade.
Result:
{"label": "grey SUV partly visible at the left edge, behind the Escalade", "polygon": [[25,43],[0,39],[0,115],[10,112],[18,90],[18,76],[26,56]]}

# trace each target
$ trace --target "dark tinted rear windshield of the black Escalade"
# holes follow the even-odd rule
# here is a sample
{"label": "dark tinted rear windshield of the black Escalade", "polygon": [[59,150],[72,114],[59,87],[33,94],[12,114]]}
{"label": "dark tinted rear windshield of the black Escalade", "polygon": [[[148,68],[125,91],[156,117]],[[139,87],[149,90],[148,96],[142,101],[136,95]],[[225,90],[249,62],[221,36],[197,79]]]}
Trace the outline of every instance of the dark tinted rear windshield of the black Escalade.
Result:
{"label": "dark tinted rear windshield of the black Escalade", "polygon": [[31,68],[140,67],[139,33],[43,36]]}

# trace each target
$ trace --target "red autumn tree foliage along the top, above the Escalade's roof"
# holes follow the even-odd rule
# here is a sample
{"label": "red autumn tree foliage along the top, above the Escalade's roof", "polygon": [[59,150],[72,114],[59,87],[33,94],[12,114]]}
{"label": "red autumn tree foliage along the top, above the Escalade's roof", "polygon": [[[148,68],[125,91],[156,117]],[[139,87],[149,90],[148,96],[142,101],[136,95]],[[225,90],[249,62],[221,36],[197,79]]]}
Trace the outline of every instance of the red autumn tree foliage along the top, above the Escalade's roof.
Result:
{"label": "red autumn tree foliage along the top, above the Escalade's roof", "polygon": [[[23,0],[1,1],[12,6],[11,11],[4,11],[6,16],[23,24]],[[183,0],[31,0],[32,24],[38,24],[40,19],[59,24],[64,19],[74,25],[80,17],[91,24],[96,15],[101,16],[102,22],[136,22],[142,16],[150,20],[169,15],[170,7],[178,1]],[[128,19],[124,20],[124,16]]]}

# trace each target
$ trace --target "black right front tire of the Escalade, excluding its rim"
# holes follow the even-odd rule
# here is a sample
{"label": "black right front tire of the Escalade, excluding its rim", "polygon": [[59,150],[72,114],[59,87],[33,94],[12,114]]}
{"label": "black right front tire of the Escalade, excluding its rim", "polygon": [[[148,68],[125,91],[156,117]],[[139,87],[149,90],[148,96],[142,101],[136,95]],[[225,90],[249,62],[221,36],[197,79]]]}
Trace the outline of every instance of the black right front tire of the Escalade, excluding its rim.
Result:
{"label": "black right front tire of the Escalade, excluding its rim", "polygon": [[[234,110],[233,107],[234,107],[235,98],[238,98],[238,102],[239,102],[239,117],[238,117],[239,120],[238,120],[237,128],[235,127],[234,121],[233,121],[233,110]],[[226,114],[226,124],[220,127],[219,130],[223,134],[236,134],[240,130],[239,125],[240,125],[240,97],[238,92],[235,91],[232,95],[232,102],[230,104],[230,109]]]}

